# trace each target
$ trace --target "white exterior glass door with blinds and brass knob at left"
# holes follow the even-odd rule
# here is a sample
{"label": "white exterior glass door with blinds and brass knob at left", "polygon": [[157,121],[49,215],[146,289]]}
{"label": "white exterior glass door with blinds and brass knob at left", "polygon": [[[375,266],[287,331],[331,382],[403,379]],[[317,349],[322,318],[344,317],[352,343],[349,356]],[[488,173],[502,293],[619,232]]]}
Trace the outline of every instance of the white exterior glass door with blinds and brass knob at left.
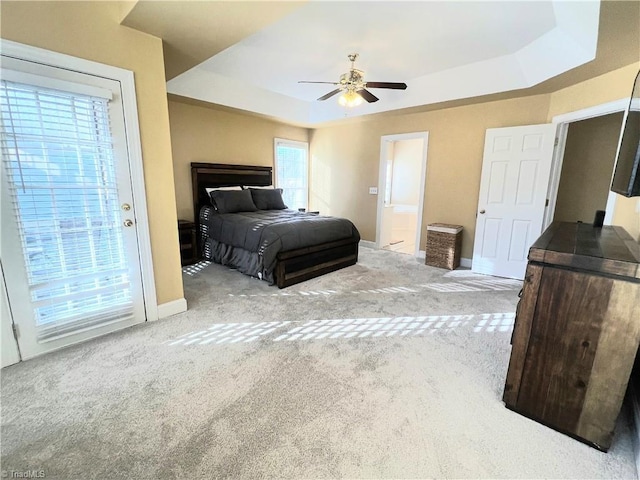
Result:
{"label": "white exterior glass door with blinds and brass knob at left", "polygon": [[119,82],[3,57],[1,259],[23,359],[144,321]]}

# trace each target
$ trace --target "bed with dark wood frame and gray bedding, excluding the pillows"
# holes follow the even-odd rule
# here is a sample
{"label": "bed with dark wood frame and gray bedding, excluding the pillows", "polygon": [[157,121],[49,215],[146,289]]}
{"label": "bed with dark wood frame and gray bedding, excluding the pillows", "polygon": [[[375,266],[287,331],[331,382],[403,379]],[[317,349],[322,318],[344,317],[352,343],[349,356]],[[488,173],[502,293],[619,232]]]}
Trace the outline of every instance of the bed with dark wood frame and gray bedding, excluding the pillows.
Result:
{"label": "bed with dark wood frame and gray bedding, excluding the pillows", "polygon": [[207,189],[270,186],[271,167],[192,163],[191,179],[202,259],[231,266],[279,288],[358,261],[360,234],[349,220],[293,210],[219,213],[212,207]]}

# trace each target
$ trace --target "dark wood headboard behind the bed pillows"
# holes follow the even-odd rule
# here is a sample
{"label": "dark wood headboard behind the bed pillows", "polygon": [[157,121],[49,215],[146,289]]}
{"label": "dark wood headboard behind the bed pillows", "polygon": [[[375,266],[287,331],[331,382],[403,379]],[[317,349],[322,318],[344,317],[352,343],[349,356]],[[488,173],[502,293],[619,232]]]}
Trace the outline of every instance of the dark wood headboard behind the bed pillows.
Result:
{"label": "dark wood headboard behind the bed pillows", "polygon": [[273,185],[272,167],[231,165],[224,163],[191,163],[193,218],[199,221],[200,209],[209,205],[205,188]]}

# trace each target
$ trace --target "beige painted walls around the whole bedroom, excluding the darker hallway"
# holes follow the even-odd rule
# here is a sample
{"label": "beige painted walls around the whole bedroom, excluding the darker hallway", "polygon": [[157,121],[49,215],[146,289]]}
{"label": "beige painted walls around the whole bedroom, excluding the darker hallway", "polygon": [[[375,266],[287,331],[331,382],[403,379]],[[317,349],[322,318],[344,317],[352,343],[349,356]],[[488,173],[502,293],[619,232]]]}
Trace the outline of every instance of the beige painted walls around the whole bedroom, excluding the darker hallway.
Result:
{"label": "beige painted walls around the whole bedroom, excluding the darker hallway", "polygon": [[[351,218],[363,239],[373,241],[377,198],[368,194],[368,187],[378,185],[380,137],[428,131],[423,225],[463,225],[462,256],[470,258],[485,130],[544,123],[557,114],[627,97],[640,66],[630,65],[549,95],[380,116],[309,131],[173,101],[169,102],[169,112],[162,42],[119,25],[126,5],[3,0],[0,8],[0,36],[4,39],[134,72],[159,303],[183,297],[176,210],[181,217],[192,218],[188,170],[192,161],[271,165],[273,137],[308,139],[310,208]],[[614,223],[636,232],[637,238],[640,227],[636,200],[619,200]],[[424,248],[424,231],[422,237]]]}

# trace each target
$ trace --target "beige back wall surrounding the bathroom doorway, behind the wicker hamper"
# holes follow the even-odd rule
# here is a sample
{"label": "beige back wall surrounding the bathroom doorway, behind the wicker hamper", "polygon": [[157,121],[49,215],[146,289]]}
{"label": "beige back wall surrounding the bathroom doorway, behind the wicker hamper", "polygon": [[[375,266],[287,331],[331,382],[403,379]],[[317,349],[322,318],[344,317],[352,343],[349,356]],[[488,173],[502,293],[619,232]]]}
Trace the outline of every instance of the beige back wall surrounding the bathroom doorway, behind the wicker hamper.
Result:
{"label": "beige back wall surrounding the bathroom doorway, behind the wicker hamper", "polygon": [[380,137],[429,132],[420,242],[426,225],[462,225],[462,256],[471,258],[487,128],[545,123],[549,95],[378,117],[319,128],[311,136],[311,208],[354,221],[364,240],[375,241]]}

